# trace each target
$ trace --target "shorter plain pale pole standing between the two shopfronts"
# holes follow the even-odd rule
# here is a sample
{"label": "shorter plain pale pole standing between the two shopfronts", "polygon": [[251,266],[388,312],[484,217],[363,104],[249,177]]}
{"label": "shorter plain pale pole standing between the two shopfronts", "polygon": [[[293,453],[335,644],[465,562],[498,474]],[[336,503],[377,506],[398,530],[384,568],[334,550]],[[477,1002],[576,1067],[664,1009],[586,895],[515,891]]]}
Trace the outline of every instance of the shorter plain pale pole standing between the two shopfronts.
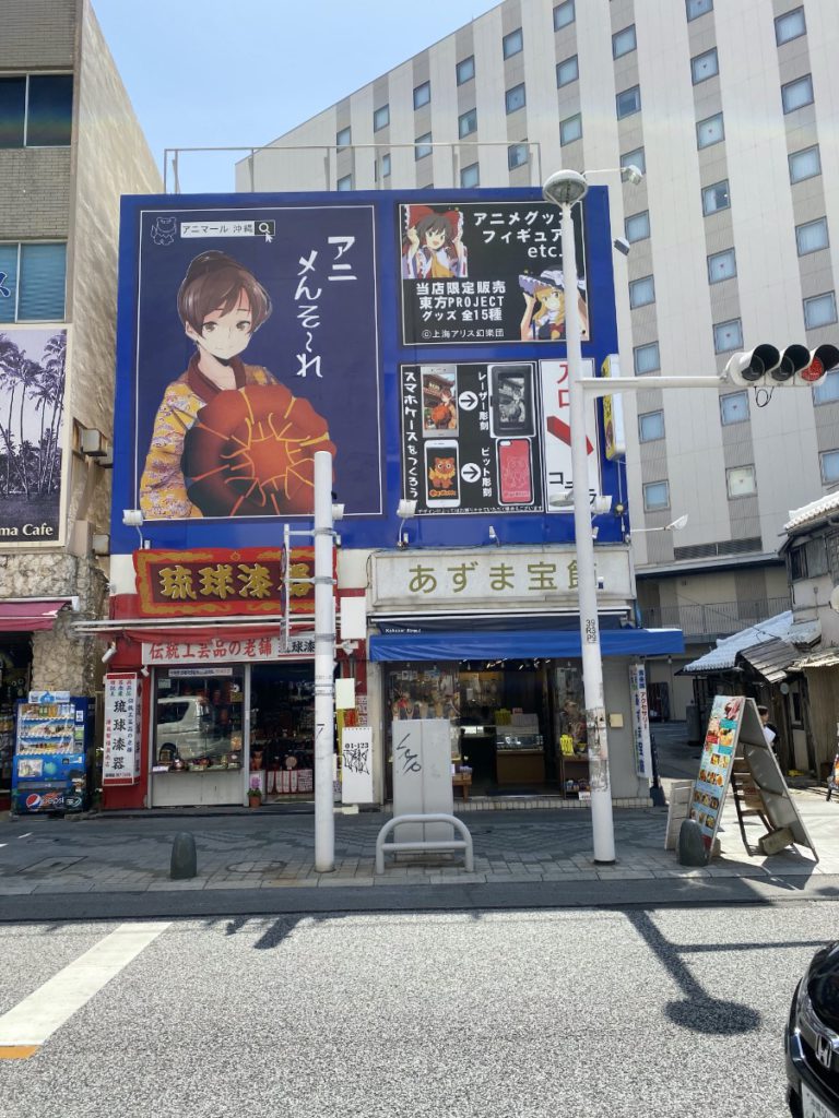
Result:
{"label": "shorter plain pale pole standing between the two shopfronts", "polygon": [[314,455],[314,869],[334,870],[334,588],[332,455]]}

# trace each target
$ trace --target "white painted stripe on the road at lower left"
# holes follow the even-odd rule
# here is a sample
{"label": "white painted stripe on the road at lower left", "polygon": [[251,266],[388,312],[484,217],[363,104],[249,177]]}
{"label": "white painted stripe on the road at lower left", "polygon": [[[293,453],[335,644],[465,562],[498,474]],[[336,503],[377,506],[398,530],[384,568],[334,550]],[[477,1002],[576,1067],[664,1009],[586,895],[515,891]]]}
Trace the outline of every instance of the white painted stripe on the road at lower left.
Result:
{"label": "white painted stripe on the road at lower left", "polygon": [[168,921],[120,925],[0,1016],[0,1048],[44,1044],[168,927]]}

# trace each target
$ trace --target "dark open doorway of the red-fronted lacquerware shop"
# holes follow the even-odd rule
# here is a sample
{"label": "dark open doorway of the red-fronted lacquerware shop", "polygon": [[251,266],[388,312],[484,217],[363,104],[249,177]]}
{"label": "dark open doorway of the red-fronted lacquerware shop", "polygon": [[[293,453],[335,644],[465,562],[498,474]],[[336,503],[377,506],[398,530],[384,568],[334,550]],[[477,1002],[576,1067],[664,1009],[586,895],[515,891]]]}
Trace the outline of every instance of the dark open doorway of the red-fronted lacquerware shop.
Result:
{"label": "dark open doorway of the red-fronted lacquerware shop", "polygon": [[314,669],[311,661],[251,669],[251,774],[268,802],[314,794]]}

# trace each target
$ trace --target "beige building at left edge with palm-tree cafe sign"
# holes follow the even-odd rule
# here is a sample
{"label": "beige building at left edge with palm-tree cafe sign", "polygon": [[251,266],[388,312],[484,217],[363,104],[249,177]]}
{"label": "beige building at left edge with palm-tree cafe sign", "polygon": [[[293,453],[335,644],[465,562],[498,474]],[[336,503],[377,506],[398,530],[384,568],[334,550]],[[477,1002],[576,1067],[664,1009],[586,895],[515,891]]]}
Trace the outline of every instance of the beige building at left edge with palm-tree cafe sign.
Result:
{"label": "beige building at left edge with palm-tree cafe sign", "polygon": [[120,195],[161,182],[87,0],[3,0],[0,121],[2,797],[15,699],[100,685]]}

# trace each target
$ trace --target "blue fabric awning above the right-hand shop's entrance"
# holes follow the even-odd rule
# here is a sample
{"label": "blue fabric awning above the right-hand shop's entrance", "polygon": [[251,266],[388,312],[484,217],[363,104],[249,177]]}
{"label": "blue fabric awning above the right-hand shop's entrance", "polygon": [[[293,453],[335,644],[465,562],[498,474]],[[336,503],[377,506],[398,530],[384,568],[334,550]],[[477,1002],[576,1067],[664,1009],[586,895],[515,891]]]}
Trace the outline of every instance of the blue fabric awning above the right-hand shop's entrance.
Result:
{"label": "blue fabric awning above the right-hand shop's entrance", "polygon": [[[685,652],[681,629],[601,629],[604,656],[661,656]],[[582,656],[579,631],[396,633],[371,636],[371,661],[555,660]]]}

